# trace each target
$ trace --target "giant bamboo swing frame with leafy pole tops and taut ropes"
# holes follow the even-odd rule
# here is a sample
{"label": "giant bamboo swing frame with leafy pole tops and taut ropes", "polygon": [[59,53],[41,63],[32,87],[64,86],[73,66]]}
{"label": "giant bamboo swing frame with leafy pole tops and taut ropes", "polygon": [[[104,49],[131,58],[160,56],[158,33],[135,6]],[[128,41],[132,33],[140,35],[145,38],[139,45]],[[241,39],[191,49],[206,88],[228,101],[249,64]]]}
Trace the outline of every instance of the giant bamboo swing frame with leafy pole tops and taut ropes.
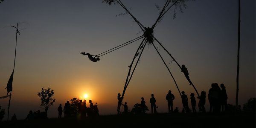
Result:
{"label": "giant bamboo swing frame with leafy pole tops and taut ropes", "polygon": [[[141,41],[140,46],[138,47],[137,51],[135,52],[134,58],[132,59],[130,66],[128,66],[128,67],[129,67],[129,71],[128,71],[128,75],[127,75],[127,78],[126,78],[126,81],[125,81],[124,90],[123,90],[123,92],[122,92],[122,97],[121,97],[122,99],[123,99],[123,97],[124,97],[125,90],[126,90],[126,88],[128,87],[128,84],[129,84],[130,81],[131,81],[131,78],[132,78],[132,76],[133,76],[133,74],[134,74],[134,71],[135,71],[135,69],[136,69],[136,67],[137,67],[137,64],[138,64],[138,62],[139,62],[139,60],[140,60],[140,57],[141,57],[141,55],[142,55],[142,53],[143,53],[143,50],[144,50],[146,44],[152,44],[153,47],[154,47],[154,49],[156,49],[158,55],[160,56],[160,58],[162,59],[163,63],[165,64],[166,68],[168,69],[170,75],[172,76],[172,79],[173,79],[174,82],[175,82],[175,85],[176,85],[176,87],[177,87],[177,90],[178,90],[179,93],[180,93],[179,87],[178,87],[178,85],[177,85],[177,83],[176,83],[176,81],[175,81],[175,79],[174,79],[174,76],[172,75],[172,73],[171,73],[169,67],[167,66],[166,62],[164,61],[162,55],[161,55],[160,52],[157,50],[157,47],[156,47],[156,46],[154,45],[154,43],[153,43],[154,40],[155,40],[155,41],[157,41],[158,44],[160,44],[161,47],[163,47],[163,45],[160,43],[160,41],[158,41],[157,38],[154,37],[154,35],[153,35],[154,33],[153,33],[153,32],[154,32],[154,27],[157,25],[157,23],[160,23],[161,19],[163,18],[163,15],[165,15],[166,12],[168,12],[168,10],[171,9],[172,6],[175,6],[175,10],[177,9],[177,7],[180,7],[180,10],[182,10],[181,7],[182,7],[182,6],[185,6],[185,2],[186,2],[186,1],[188,1],[188,0],[166,0],[166,3],[165,3],[165,5],[163,6],[163,9],[162,9],[162,11],[160,12],[160,15],[158,16],[156,22],[152,25],[151,28],[150,28],[150,27],[147,27],[147,28],[146,28],[146,27],[144,27],[144,26],[131,14],[131,12],[128,11],[128,9],[127,9],[127,8],[125,7],[125,5],[121,2],[121,0],[103,0],[103,3],[108,3],[109,5],[111,5],[112,3],[113,3],[113,4],[118,3],[120,6],[122,6],[122,8],[124,8],[125,11],[126,11],[129,15],[131,15],[131,17],[135,20],[135,22],[140,26],[140,28],[141,28],[142,31],[144,32],[143,35],[140,36],[140,37],[138,37],[138,38],[135,38],[135,39],[133,39],[133,40],[131,40],[131,41],[128,41],[128,42],[126,42],[126,43],[124,43],[124,44],[121,44],[121,45],[119,45],[119,46],[117,46],[117,47],[114,47],[114,48],[112,48],[112,49],[109,49],[109,50],[107,50],[107,51],[105,51],[105,52],[102,52],[102,53],[100,53],[100,54],[98,54],[98,55],[93,55],[94,57],[100,57],[100,56],[106,55],[106,54],[108,54],[108,53],[110,53],[110,52],[113,52],[113,51],[116,50],[116,49],[119,49],[119,48],[121,48],[121,47],[124,47],[124,46],[126,46],[126,45],[128,45],[128,44],[131,44],[131,43],[133,43],[133,42],[135,42],[135,41],[138,41],[138,40],[140,40],[140,39],[143,38],[143,41]],[[172,4],[170,4],[171,2],[172,2]],[[175,15],[174,15],[174,17],[175,17]],[[168,52],[165,47],[163,47],[163,49],[170,55],[170,57],[173,59],[173,61],[175,61],[175,63],[180,67],[180,64],[175,60],[175,58],[170,54],[170,52]],[[134,68],[133,68],[133,70],[132,70],[132,67],[133,67],[135,58],[136,58],[138,55],[139,55],[139,57],[137,58],[137,62],[136,62],[135,66],[134,66]],[[180,69],[182,70],[182,67],[180,67]],[[132,70],[132,72],[131,72],[131,70]],[[185,75],[185,73],[184,73],[184,75]],[[196,93],[197,93],[198,96],[199,96],[198,91],[196,90],[194,84],[190,81],[188,75],[185,75],[185,76],[186,76],[186,79],[187,79],[187,80],[189,81],[189,83],[193,86],[193,88],[195,89]],[[181,93],[180,93],[180,96],[181,96]],[[117,108],[118,114],[119,114],[119,112],[120,112],[120,106],[121,106],[121,105],[119,104],[119,105],[118,105],[118,108]]]}

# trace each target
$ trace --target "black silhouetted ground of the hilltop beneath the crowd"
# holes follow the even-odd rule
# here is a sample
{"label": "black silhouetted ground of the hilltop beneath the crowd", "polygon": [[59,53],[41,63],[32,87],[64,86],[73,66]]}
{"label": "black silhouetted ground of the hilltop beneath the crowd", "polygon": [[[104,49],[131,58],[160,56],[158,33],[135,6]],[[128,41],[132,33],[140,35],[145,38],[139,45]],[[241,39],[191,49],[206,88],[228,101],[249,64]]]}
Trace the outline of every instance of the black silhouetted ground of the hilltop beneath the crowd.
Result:
{"label": "black silhouetted ground of the hilltop beneath the crowd", "polygon": [[0,128],[256,128],[255,113],[160,113],[0,122]]}

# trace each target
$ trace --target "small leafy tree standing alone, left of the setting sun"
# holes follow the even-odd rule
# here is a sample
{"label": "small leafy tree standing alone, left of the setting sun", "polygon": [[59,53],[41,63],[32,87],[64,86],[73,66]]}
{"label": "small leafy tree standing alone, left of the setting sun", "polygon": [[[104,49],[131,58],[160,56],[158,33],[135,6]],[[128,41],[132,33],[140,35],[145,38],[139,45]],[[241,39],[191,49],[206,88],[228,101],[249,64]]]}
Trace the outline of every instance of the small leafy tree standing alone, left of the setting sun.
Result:
{"label": "small leafy tree standing alone, left of the setting sun", "polygon": [[53,96],[54,92],[49,87],[48,89],[44,89],[43,87],[41,92],[38,92],[38,97],[41,98],[41,106],[44,106],[44,111],[46,113],[49,107],[55,102],[55,99],[52,99]]}

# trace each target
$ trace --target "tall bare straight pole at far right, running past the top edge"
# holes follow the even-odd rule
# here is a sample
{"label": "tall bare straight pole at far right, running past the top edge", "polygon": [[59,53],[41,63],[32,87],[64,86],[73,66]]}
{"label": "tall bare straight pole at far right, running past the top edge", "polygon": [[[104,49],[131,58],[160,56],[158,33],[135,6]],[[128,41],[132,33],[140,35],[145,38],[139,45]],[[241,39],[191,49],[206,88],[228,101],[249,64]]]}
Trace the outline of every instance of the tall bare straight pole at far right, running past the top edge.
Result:
{"label": "tall bare straight pole at far right, running past the top edge", "polygon": [[237,46],[237,73],[236,73],[236,110],[238,109],[238,91],[239,91],[239,56],[240,56],[240,0],[238,0],[238,46]]}

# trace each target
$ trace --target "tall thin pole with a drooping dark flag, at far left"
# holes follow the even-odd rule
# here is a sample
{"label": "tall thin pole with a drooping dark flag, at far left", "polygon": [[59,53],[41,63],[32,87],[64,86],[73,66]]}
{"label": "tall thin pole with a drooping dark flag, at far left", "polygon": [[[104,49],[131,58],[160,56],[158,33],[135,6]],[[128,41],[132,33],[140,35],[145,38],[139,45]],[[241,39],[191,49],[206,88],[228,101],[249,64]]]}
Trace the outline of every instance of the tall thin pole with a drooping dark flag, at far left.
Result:
{"label": "tall thin pole with a drooping dark flag, at far left", "polygon": [[8,116],[7,116],[7,121],[9,121],[9,111],[10,111],[10,103],[11,103],[11,97],[12,97],[12,81],[13,81],[13,73],[14,73],[14,69],[15,69],[15,60],[16,60],[16,49],[17,49],[17,34],[20,34],[19,30],[18,30],[18,23],[17,26],[12,26],[16,29],[16,41],[15,41],[15,58],[14,58],[14,65],[13,65],[13,70],[12,70],[12,75],[10,76],[10,79],[7,83],[7,95],[10,92],[10,99],[9,99],[9,105],[8,105]]}

